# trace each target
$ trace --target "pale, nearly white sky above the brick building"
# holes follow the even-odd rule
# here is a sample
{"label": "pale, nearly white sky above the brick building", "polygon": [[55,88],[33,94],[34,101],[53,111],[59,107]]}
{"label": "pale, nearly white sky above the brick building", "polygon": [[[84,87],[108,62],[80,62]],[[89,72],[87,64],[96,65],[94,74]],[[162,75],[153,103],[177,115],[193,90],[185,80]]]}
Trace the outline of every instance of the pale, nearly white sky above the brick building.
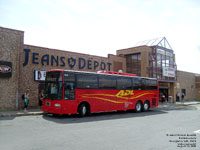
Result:
{"label": "pale, nearly white sky above the brick building", "polygon": [[166,37],[178,70],[200,74],[199,0],[0,0],[0,26],[25,44],[104,57]]}

